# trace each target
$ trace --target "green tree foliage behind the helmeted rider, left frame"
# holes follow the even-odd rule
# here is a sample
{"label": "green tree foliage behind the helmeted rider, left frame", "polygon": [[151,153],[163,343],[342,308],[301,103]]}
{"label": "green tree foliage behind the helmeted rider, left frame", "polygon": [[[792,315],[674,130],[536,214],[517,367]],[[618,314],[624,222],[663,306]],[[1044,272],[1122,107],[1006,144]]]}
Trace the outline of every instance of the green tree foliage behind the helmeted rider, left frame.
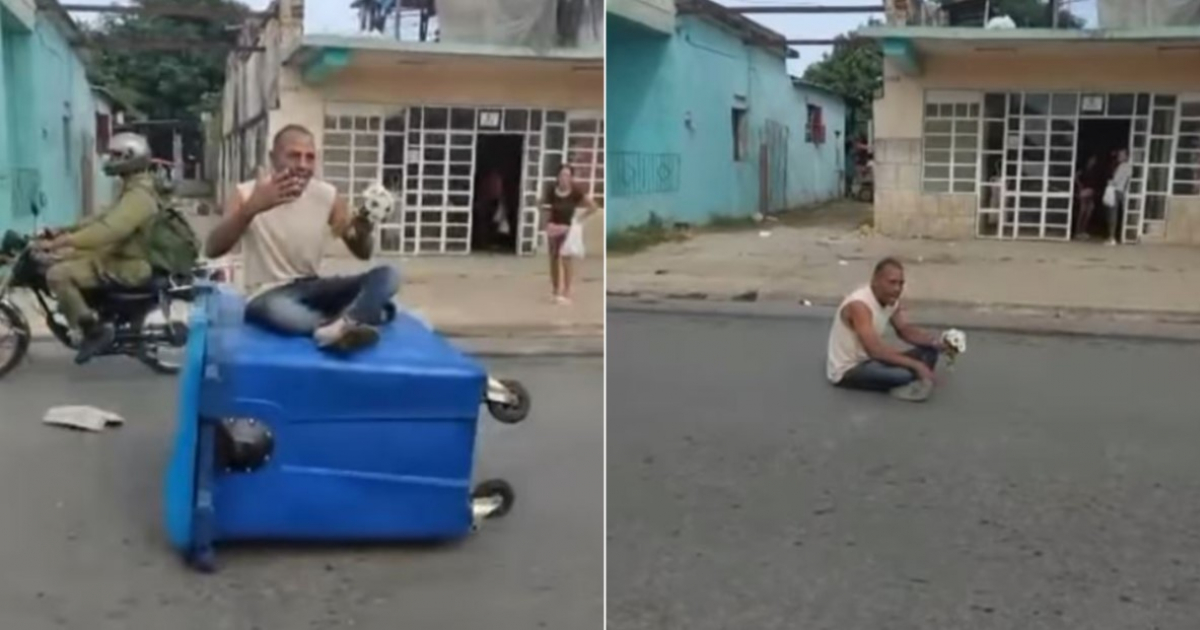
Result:
{"label": "green tree foliage behind the helmeted rider, left frame", "polygon": [[[163,4],[137,0],[138,5]],[[233,42],[250,10],[234,0],[187,0],[215,8],[208,18],[156,17],[142,13],[107,16],[90,29],[104,38],[180,42]],[[139,50],[120,46],[94,52],[96,78],[151,119],[199,120],[224,84],[223,47],[190,50]]]}

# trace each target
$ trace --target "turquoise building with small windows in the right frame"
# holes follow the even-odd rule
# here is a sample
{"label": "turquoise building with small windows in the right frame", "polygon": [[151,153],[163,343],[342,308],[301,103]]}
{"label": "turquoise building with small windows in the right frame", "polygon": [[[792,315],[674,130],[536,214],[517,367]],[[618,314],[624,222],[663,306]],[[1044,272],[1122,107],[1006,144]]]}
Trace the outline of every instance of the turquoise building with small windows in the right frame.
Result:
{"label": "turquoise building with small windows in the right frame", "polygon": [[710,0],[676,10],[671,30],[610,10],[608,232],[841,196],[845,101],[788,74],[782,35]]}

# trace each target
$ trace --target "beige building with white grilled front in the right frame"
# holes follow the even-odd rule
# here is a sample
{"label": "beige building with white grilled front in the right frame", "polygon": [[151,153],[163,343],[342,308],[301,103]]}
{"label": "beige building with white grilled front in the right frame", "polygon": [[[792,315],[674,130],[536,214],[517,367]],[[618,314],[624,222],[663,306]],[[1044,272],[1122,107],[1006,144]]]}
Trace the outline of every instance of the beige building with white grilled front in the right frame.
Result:
{"label": "beige building with white grilled front in the right frame", "polygon": [[[888,26],[875,103],[876,228],[937,239],[1082,236],[1078,174],[1133,180],[1126,244],[1200,245],[1200,30]],[[1103,190],[1099,191],[1103,193]],[[1088,230],[1108,230],[1104,212]]]}

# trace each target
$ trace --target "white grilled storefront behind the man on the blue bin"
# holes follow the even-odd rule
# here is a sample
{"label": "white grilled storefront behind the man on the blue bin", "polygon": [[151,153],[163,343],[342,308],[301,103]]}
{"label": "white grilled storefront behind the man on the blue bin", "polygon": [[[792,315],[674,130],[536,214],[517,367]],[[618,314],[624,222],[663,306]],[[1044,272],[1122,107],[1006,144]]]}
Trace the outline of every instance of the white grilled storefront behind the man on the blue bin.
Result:
{"label": "white grilled storefront behind the man on the blue bin", "polygon": [[[535,252],[539,199],[564,162],[602,204],[599,112],[328,103],[323,136],[323,176],[352,203],[376,181],[396,197],[379,230],[385,253]],[[481,181],[491,173],[508,191],[506,230],[493,229],[494,214],[479,208]]]}

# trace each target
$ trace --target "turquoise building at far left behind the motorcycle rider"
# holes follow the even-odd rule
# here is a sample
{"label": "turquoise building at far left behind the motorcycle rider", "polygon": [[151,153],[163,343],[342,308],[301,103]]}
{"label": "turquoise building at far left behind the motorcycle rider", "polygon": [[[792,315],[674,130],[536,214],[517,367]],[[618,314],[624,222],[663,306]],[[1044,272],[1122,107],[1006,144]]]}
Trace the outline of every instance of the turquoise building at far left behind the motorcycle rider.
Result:
{"label": "turquoise building at far left behind the motorcycle rider", "polygon": [[96,150],[103,116],[68,43],[77,36],[60,10],[0,0],[0,232],[68,224],[112,198]]}

